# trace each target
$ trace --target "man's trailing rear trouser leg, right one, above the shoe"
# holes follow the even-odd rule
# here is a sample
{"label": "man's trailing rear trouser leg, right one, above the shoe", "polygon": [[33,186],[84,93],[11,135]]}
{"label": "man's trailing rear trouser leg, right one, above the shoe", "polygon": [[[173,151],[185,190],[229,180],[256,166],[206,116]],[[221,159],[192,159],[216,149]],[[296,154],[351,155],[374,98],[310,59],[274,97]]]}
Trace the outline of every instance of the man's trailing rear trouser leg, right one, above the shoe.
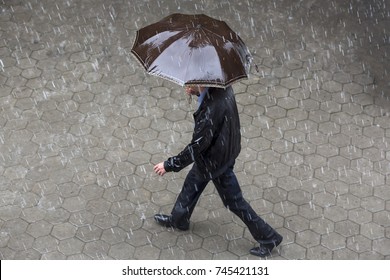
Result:
{"label": "man's trailing rear trouser leg, right one, above the shoe", "polygon": [[213,180],[226,208],[237,215],[248,227],[253,238],[260,244],[273,244],[278,233],[260,218],[243,198],[233,167]]}

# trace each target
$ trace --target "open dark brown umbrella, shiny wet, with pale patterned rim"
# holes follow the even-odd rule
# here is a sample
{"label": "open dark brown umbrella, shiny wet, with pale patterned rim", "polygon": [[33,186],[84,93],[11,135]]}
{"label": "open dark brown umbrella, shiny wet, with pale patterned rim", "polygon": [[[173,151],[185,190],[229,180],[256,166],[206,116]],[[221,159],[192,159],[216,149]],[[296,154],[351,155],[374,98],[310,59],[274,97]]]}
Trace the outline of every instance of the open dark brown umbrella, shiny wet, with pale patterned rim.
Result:
{"label": "open dark brown umbrella, shiny wet, with pale patterned rim", "polygon": [[172,14],[137,31],[131,52],[145,70],[184,85],[225,88],[248,78],[252,56],[224,22]]}

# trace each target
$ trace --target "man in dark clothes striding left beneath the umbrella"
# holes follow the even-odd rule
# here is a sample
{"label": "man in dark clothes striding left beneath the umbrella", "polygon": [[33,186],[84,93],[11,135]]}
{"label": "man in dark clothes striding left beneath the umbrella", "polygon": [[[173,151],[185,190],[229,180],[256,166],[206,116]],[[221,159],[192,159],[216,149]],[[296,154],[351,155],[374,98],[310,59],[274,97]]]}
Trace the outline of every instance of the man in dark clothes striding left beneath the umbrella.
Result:
{"label": "man in dark clothes striding left beneath the umbrella", "polygon": [[259,246],[250,253],[259,257],[271,254],[283,237],[260,218],[243,198],[233,172],[241,150],[240,120],[231,86],[226,89],[188,86],[189,96],[198,96],[194,113],[195,128],[191,142],[177,156],[156,164],[154,171],[163,176],[194,163],[170,215],[156,214],[157,223],[187,230],[195,205],[206,185],[213,181],[226,208],[248,227]]}

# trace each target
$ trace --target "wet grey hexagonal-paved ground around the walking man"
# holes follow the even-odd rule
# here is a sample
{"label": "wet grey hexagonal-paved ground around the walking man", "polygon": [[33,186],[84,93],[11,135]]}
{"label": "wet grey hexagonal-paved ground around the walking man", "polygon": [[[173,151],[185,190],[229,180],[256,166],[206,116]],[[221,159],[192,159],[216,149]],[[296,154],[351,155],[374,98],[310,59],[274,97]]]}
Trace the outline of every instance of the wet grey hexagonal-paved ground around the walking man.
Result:
{"label": "wet grey hexagonal-paved ground around the walking man", "polygon": [[258,65],[235,170],[284,236],[270,259],[390,259],[388,0],[0,0],[0,259],[256,259],[212,184],[189,231],[153,220],[196,104],[130,49],[174,12],[226,20]]}

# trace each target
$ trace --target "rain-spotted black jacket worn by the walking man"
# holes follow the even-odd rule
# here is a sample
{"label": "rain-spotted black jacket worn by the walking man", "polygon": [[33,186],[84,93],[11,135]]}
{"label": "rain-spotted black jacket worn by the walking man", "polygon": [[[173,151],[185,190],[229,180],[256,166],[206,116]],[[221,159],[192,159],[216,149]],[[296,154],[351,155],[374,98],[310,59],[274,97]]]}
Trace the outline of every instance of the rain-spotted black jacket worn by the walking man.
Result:
{"label": "rain-spotted black jacket worn by the walking man", "polygon": [[194,113],[191,143],[164,162],[167,172],[178,172],[195,162],[205,178],[214,179],[232,166],[241,150],[240,120],[233,89],[209,88]]}

